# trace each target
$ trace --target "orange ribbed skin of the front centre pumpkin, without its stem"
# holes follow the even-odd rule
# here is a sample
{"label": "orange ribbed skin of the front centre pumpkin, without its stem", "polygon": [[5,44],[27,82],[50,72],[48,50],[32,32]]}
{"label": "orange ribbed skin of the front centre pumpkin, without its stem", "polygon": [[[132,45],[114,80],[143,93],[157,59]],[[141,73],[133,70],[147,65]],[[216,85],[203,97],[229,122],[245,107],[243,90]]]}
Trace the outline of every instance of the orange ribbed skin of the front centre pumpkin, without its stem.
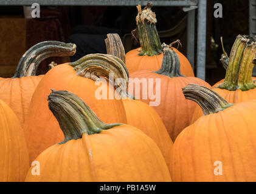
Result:
{"label": "orange ribbed skin of the front centre pumpkin, without its stem", "polygon": [[171,181],[156,144],[129,125],[54,145],[36,161],[41,175],[29,170],[26,181]]}

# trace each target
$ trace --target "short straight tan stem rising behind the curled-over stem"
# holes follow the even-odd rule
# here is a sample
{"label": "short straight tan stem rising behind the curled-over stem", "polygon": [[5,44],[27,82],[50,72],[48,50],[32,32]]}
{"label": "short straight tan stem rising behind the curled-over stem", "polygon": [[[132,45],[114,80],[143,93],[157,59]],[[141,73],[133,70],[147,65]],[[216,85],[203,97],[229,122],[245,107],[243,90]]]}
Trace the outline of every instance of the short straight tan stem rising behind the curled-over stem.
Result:
{"label": "short straight tan stem rising behind the curled-over stem", "polygon": [[[125,65],[125,49],[123,48],[123,43],[120,36],[118,34],[108,34],[106,36],[107,38],[105,39],[105,42],[108,55],[113,55],[119,59],[122,59],[123,63],[121,64],[123,65],[123,68],[125,69],[125,72],[129,78],[129,72]],[[128,85],[128,82],[126,84]],[[120,93],[120,95],[125,99],[134,99],[134,97],[128,92],[126,92],[126,95],[123,95],[122,93]]]}

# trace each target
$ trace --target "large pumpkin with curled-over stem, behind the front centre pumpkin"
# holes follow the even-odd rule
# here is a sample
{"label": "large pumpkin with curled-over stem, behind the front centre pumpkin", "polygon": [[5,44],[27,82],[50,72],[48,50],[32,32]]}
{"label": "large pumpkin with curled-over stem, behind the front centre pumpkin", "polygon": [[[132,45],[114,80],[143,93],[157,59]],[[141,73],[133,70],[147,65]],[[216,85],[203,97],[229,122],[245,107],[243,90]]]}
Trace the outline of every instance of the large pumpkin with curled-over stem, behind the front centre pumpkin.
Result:
{"label": "large pumpkin with curled-over stem, behind the front centre pumpkin", "polygon": [[24,127],[30,161],[63,139],[58,122],[47,107],[50,89],[76,93],[103,122],[126,122],[122,99],[118,99],[119,93],[106,79],[99,79],[108,78],[109,75],[113,75],[110,83],[117,78],[128,79],[122,61],[103,54],[90,54],[78,61],[57,65],[44,75],[32,96]]}

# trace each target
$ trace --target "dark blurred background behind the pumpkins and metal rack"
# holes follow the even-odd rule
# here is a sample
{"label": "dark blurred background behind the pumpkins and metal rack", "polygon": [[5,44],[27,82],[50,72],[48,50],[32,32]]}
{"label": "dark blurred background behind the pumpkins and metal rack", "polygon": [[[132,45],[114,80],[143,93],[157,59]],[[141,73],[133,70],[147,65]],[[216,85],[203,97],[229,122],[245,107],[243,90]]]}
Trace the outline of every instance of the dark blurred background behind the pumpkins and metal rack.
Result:
{"label": "dark blurred background behind the pumpkins and metal rack", "polygon": [[[223,5],[223,18],[213,16],[215,3]],[[106,53],[104,39],[107,33],[119,33],[126,52],[139,47],[139,43],[131,36],[131,31],[136,28],[135,6],[41,6],[40,8],[40,18],[26,18],[24,6],[0,6],[1,77],[11,77],[23,53],[41,41],[55,40],[77,44],[80,52],[72,56],[71,61],[89,53]],[[161,42],[170,44],[180,39],[182,47],[178,49],[187,55],[188,12],[184,12],[179,6],[153,6],[152,10],[156,13],[156,26]],[[167,32],[168,36],[161,37],[161,32]],[[206,81],[214,84],[225,76],[225,70],[220,63],[222,54],[220,37],[223,36],[224,48],[229,54],[236,36],[249,34],[249,1],[207,0],[206,32]],[[37,74],[46,73],[51,61],[60,64],[63,59],[46,59],[40,65]]]}

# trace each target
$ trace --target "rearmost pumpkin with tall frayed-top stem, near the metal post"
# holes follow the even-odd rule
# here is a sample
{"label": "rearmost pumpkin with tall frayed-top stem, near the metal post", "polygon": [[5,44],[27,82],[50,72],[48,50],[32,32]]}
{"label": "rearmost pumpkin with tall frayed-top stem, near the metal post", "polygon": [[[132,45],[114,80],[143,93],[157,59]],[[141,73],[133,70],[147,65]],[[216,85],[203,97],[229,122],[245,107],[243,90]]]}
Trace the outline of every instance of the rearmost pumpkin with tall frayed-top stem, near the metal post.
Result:
{"label": "rearmost pumpkin with tall frayed-top stem, near the metal post", "polygon": [[[139,70],[157,71],[161,68],[164,57],[161,50],[161,42],[156,30],[156,15],[151,10],[152,4],[147,4],[144,9],[137,6],[138,15],[136,17],[137,30],[141,48],[131,50],[126,53],[126,66],[130,73]],[[178,55],[181,62],[181,73],[185,76],[193,77],[193,69],[189,60],[177,49],[173,50]]]}

